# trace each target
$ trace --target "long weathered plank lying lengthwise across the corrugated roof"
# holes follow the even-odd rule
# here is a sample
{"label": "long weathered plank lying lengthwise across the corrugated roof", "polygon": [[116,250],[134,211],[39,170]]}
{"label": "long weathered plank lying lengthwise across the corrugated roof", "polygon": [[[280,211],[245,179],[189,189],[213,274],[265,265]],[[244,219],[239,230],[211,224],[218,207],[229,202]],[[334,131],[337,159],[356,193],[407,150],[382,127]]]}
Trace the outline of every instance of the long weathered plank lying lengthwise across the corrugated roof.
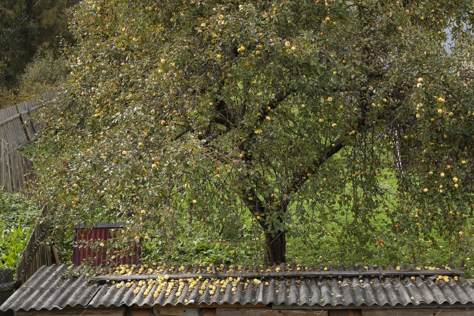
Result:
{"label": "long weathered plank lying lengthwise across the corrugated roof", "polygon": [[[364,271],[285,271],[285,272],[233,272],[233,273],[171,273],[167,274],[169,279],[189,279],[199,278],[205,279],[227,279],[233,278],[311,278],[311,277],[389,277],[389,276],[412,276],[412,275],[462,275],[464,271],[460,269],[452,270],[364,270]],[[132,275],[100,275],[91,277],[91,280],[150,280],[164,276],[166,274],[132,274]]]}

